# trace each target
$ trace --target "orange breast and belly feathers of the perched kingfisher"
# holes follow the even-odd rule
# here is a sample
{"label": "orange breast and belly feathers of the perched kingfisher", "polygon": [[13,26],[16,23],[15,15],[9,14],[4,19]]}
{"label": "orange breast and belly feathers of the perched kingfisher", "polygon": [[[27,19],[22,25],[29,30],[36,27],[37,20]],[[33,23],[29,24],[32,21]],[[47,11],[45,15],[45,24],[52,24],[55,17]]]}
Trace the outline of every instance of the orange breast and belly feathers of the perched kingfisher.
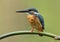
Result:
{"label": "orange breast and belly feathers of the perched kingfisher", "polygon": [[40,30],[42,28],[42,25],[41,25],[38,17],[36,17],[34,15],[27,15],[27,19],[32,27],[36,28],[37,30]]}

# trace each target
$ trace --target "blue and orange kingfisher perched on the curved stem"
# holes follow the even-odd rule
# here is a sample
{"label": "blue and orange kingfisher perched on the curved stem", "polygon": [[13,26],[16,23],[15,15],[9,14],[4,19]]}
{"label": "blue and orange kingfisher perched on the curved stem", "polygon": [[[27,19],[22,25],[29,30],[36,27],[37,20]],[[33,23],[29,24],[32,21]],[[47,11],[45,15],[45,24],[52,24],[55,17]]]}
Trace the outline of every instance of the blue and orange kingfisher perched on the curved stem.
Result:
{"label": "blue and orange kingfisher perched on the curved stem", "polygon": [[28,13],[27,18],[29,23],[32,26],[31,32],[34,31],[34,28],[38,30],[38,32],[43,32],[44,30],[44,18],[41,14],[39,14],[36,8],[27,8],[25,10],[17,10],[17,13]]}

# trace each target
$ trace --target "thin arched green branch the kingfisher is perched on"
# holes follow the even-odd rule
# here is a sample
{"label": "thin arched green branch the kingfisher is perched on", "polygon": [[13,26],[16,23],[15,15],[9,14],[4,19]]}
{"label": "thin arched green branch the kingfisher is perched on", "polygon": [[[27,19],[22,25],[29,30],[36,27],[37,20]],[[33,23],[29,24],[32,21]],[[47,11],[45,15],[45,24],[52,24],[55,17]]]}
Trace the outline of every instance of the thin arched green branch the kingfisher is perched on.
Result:
{"label": "thin arched green branch the kingfisher is perched on", "polygon": [[60,40],[60,36],[57,36],[57,35],[54,35],[54,34],[51,34],[51,33],[47,33],[47,32],[30,32],[30,31],[15,31],[15,32],[10,32],[10,33],[6,33],[6,34],[3,34],[3,35],[0,35],[0,40],[4,39],[4,38],[7,38],[7,37],[10,37],[10,36],[15,36],[15,35],[24,35],[24,34],[34,34],[34,35],[43,35],[43,36],[48,36],[48,37],[51,37],[51,38],[54,38],[56,40]]}

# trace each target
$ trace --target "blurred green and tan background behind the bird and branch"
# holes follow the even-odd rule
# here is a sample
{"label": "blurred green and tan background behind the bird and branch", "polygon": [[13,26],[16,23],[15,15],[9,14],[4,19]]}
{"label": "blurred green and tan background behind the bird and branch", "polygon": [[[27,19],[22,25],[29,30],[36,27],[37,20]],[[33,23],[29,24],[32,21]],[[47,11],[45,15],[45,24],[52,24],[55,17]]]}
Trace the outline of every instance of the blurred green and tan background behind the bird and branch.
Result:
{"label": "blurred green and tan background behind the bird and branch", "polygon": [[[30,30],[25,14],[16,10],[35,7],[45,20],[45,30],[60,35],[60,0],[0,0],[0,35],[19,30]],[[38,35],[19,35],[0,42],[60,42],[50,37]]]}

